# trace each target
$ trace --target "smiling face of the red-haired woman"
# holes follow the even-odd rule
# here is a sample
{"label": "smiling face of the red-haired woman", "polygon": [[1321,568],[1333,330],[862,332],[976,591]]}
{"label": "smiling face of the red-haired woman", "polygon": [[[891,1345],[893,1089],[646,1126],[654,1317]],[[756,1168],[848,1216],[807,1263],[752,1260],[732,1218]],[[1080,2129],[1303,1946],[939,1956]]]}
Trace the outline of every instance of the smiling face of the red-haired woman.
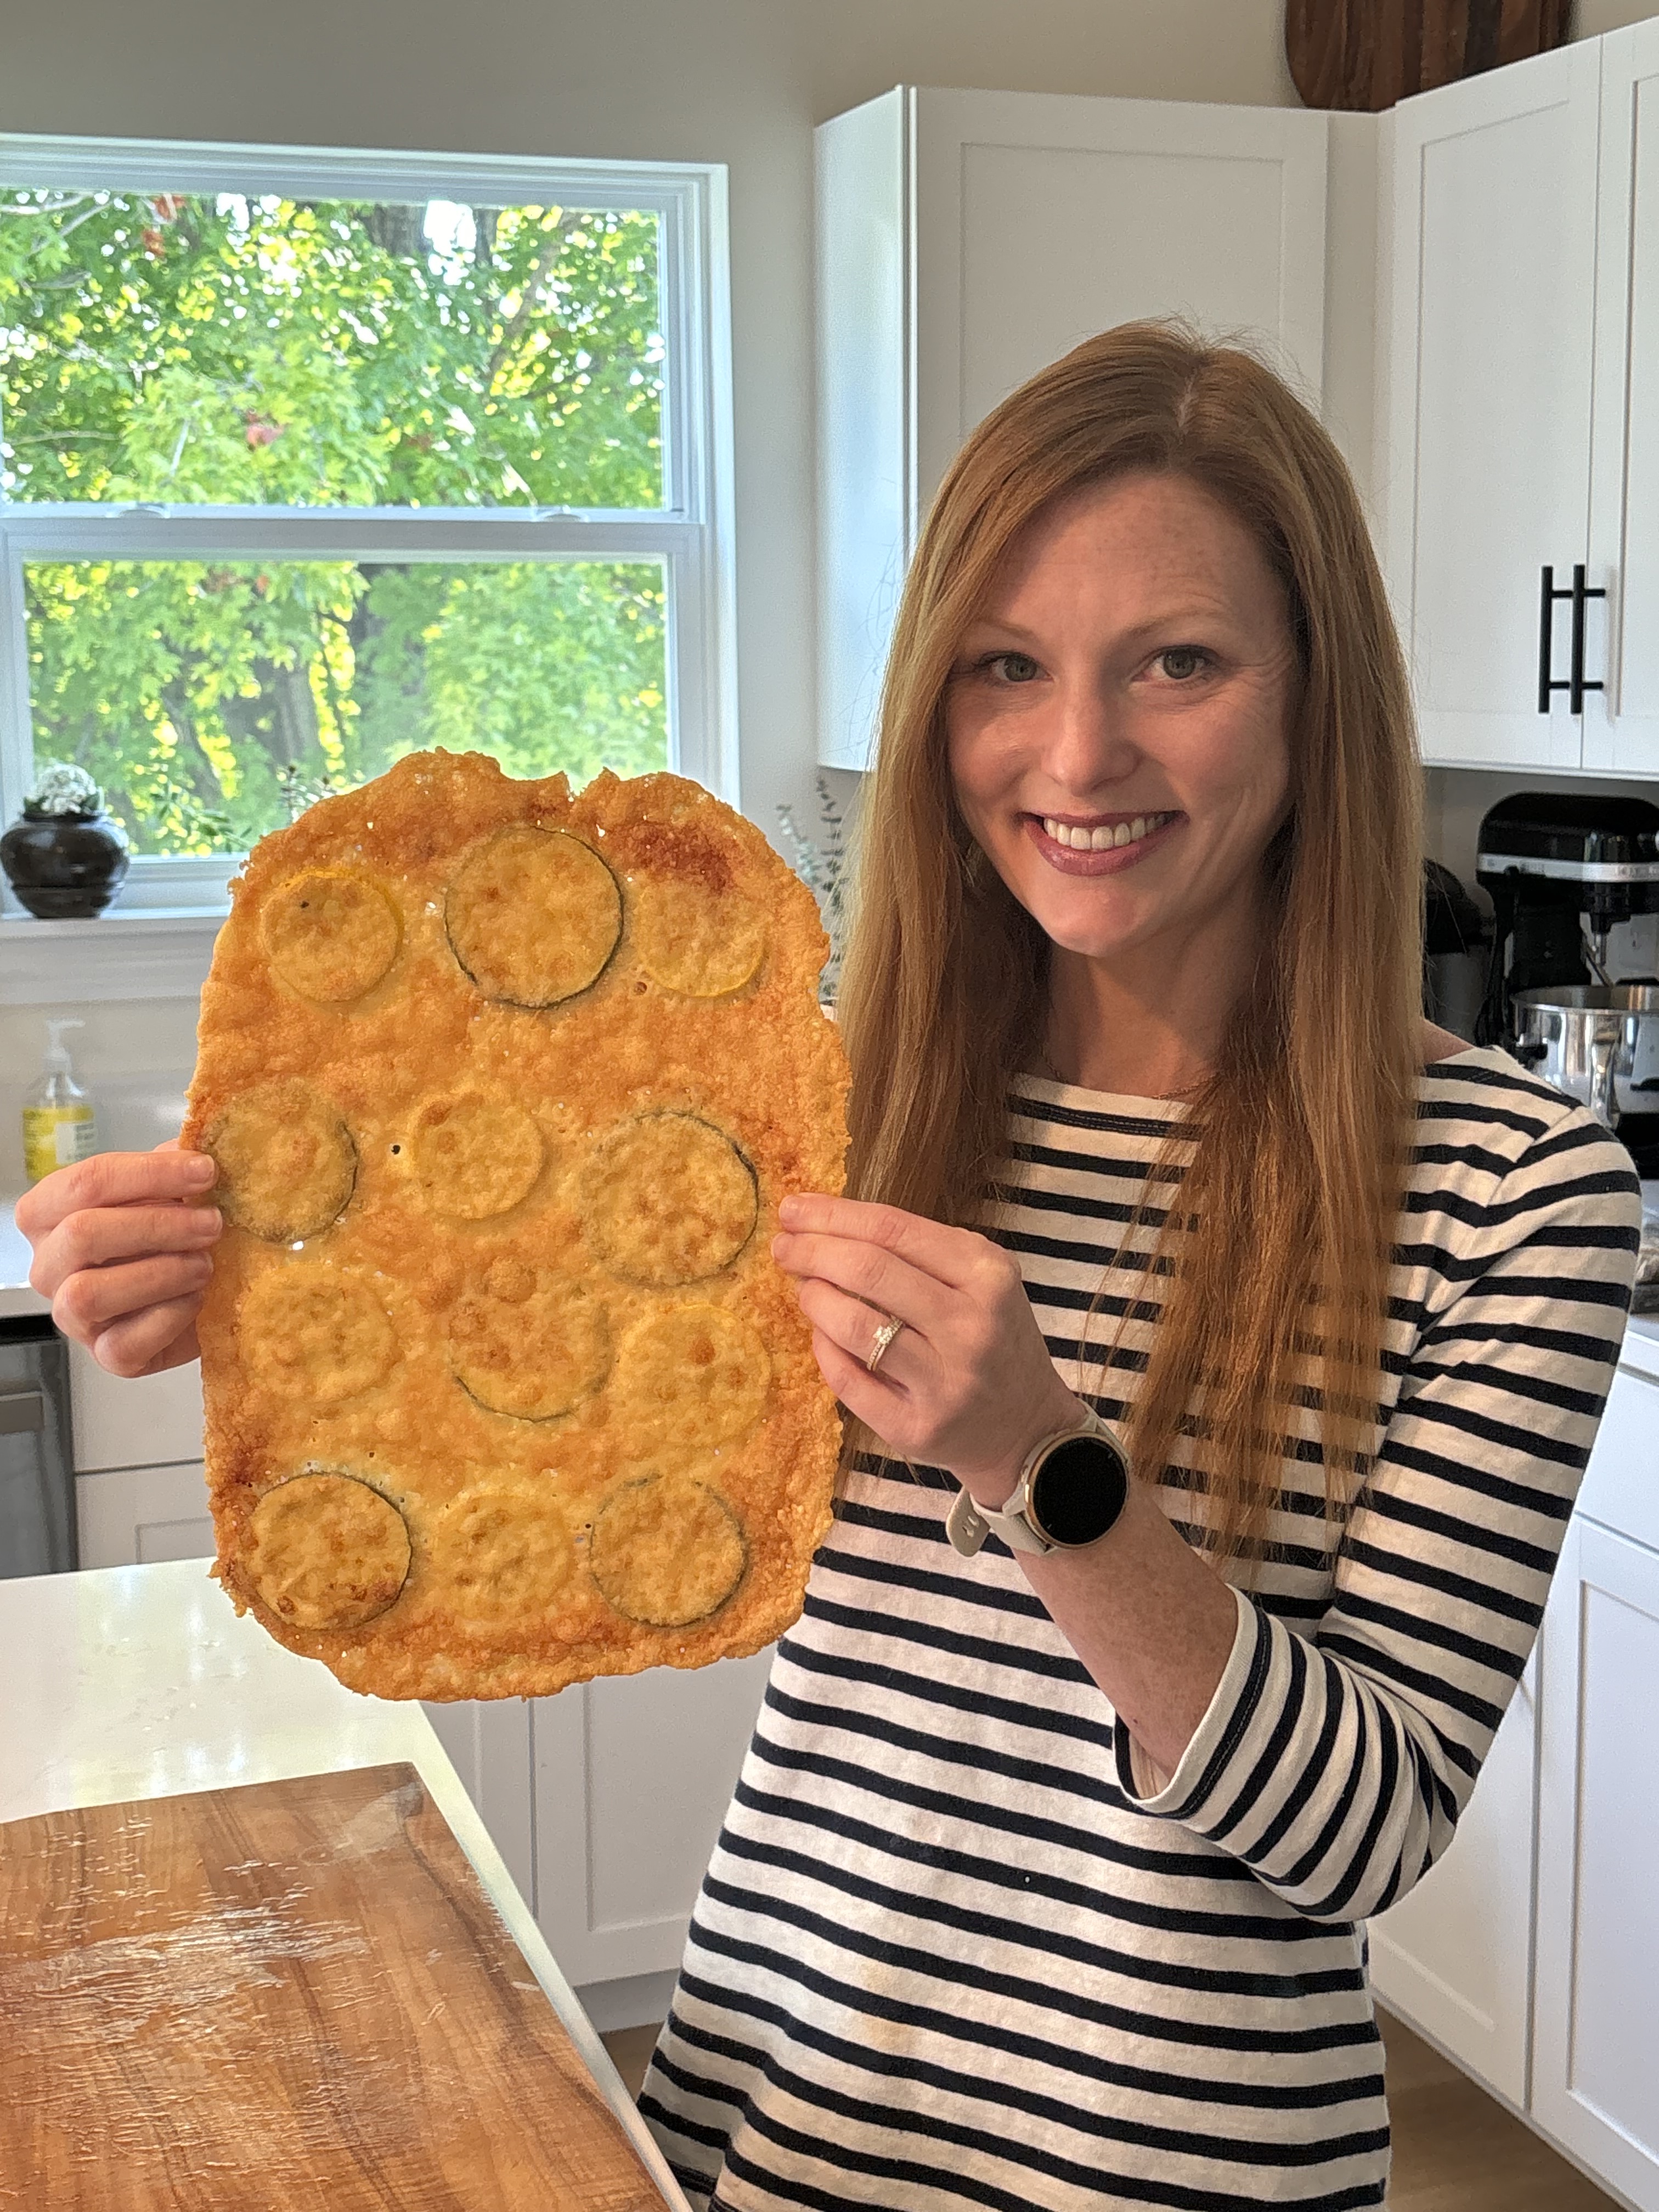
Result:
{"label": "smiling face of the red-haired woman", "polygon": [[1048,938],[1133,960],[1256,929],[1296,655],[1250,531],[1137,473],[1037,515],[947,690],[962,816]]}

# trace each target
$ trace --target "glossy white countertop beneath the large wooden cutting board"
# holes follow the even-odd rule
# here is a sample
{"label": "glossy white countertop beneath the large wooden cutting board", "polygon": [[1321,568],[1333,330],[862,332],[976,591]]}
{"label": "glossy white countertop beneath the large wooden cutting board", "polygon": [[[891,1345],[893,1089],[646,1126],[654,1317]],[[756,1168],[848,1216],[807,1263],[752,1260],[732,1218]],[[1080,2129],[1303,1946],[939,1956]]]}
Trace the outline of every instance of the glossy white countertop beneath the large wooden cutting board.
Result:
{"label": "glossy white countertop beneath the large wooden cutting board", "polygon": [[237,1619],[199,1559],[0,1582],[0,1820],[407,1759],[622,2119],[688,2212],[420,1705],[356,1697]]}

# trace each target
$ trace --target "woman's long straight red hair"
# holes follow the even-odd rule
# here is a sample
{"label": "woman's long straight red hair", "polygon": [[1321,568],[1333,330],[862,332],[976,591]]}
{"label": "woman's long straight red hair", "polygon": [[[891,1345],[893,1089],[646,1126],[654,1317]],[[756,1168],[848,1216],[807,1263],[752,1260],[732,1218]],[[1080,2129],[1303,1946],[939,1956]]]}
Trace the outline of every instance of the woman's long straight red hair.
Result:
{"label": "woman's long straight red hair", "polygon": [[1301,664],[1292,814],[1263,860],[1267,940],[1148,1183],[1155,1208],[1183,1168],[1152,1254],[1164,1312],[1130,1444],[1157,1478],[1183,1438],[1203,1467],[1208,1542],[1230,1555],[1263,1537],[1287,1436],[1312,1431],[1338,1513],[1376,1449],[1422,1037],[1405,661],[1340,453],[1245,352],[1164,323],[1108,330],[987,416],[940,484],[905,582],[860,821],[838,1000],[849,1190],[989,1221],[1009,1084],[1044,1031],[1048,947],[956,805],[945,688],[1026,524],[1144,469],[1199,484],[1252,531]]}

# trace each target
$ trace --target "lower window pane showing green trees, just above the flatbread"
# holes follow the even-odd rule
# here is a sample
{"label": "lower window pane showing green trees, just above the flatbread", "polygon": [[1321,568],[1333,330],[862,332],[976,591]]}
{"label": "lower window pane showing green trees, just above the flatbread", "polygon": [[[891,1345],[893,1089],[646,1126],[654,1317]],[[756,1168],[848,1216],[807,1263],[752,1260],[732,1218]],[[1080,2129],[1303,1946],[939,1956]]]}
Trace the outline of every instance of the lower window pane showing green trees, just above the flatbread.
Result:
{"label": "lower window pane showing green trees, just above the flatbread", "polygon": [[29,562],[35,761],[133,849],[243,852],[405,752],[668,765],[661,562]]}

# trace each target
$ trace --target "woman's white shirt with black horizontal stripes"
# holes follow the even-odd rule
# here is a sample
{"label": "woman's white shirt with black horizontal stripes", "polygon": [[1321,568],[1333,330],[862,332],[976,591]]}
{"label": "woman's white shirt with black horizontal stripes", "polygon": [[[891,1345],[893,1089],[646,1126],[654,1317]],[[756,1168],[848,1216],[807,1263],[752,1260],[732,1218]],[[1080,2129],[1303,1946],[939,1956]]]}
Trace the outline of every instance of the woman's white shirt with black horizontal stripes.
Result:
{"label": "woman's white shirt with black horizontal stripes", "polygon": [[[1011,1106],[998,1237],[1110,1420],[1157,1325],[1128,1312],[1155,1225],[1119,1241],[1181,1108],[1029,1077]],[[641,2097],[695,2205],[1385,2201],[1365,1916],[1451,1840],[1526,1663],[1639,1217],[1582,1106],[1491,1048],[1425,1068],[1380,1455],[1336,1531],[1287,1444],[1170,1776],[1013,1555],[947,1546],[947,1475],[854,1471]],[[1159,1500],[1199,1542],[1203,1447],[1172,1458]]]}

